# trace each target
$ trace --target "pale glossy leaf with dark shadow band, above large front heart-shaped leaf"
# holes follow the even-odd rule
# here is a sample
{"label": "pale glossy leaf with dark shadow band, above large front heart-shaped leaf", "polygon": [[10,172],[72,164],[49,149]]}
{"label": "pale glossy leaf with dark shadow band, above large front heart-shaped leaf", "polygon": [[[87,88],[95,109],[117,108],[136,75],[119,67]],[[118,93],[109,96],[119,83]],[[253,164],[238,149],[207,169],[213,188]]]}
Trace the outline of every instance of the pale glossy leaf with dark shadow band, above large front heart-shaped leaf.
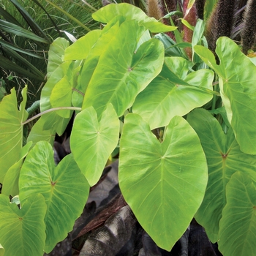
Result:
{"label": "pale glossy leaf with dark shadow band, above large front heart-shaped leaf", "polygon": [[173,116],[184,116],[212,98],[214,72],[200,69],[188,73],[189,61],[167,57],[162,72],[138,94],[133,112],[143,116],[151,129],[164,127]]}

